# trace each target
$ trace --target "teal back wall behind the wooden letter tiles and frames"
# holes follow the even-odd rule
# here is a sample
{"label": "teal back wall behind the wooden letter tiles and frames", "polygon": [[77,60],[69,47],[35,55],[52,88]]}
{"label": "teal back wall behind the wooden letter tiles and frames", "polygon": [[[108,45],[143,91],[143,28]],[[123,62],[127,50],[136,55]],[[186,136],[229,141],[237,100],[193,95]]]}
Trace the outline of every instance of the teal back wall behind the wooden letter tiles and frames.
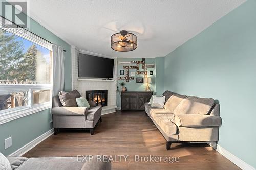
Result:
{"label": "teal back wall behind the wooden letter tiles and frames", "polygon": [[[117,61],[142,61],[142,58],[118,58]],[[155,59],[154,58],[145,58],[145,63],[146,64],[155,64]],[[134,64],[135,65],[135,64]],[[124,70],[124,76],[125,76],[125,69],[123,68],[123,65],[117,65],[117,77],[122,77],[120,75],[120,70]],[[141,69],[141,65],[140,65]],[[142,70],[142,69],[141,69]],[[131,76],[131,72],[134,71],[136,72],[136,69],[130,69],[129,70],[129,76]],[[153,71],[153,75],[150,75],[150,71]],[[150,88],[152,91],[155,91],[155,77],[156,77],[156,70],[155,68],[148,68],[148,77],[152,78],[152,83],[150,84]],[[119,86],[119,89],[121,90],[121,86],[119,85],[119,82],[125,82],[127,87],[127,91],[145,91],[146,84],[145,83],[136,83],[136,78],[137,77],[143,77],[144,75],[136,75],[134,76],[134,80],[129,80],[129,82],[125,82],[125,80],[117,80],[117,84]],[[143,80],[144,81],[144,80]],[[121,98],[120,95],[117,93],[117,107],[121,107]]]}

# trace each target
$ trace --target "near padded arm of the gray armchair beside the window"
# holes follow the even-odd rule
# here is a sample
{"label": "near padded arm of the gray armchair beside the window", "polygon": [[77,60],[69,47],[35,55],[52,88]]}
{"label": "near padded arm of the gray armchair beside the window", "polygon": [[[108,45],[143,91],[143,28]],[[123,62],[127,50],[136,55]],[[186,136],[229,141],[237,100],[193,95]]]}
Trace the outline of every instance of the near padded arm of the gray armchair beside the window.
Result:
{"label": "near padded arm of the gray armchair beside the window", "polygon": [[[53,107],[53,115],[65,115],[65,116],[82,116],[88,114],[87,107]],[[87,116],[86,116],[87,117]]]}

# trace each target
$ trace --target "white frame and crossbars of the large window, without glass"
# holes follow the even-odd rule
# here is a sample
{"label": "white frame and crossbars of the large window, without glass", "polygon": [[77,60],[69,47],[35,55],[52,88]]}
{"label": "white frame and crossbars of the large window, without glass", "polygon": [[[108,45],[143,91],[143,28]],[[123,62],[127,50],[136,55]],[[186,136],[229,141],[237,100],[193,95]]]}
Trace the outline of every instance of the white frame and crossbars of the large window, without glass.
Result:
{"label": "white frame and crossbars of the large window, without glass", "polygon": [[[3,19],[3,17],[0,17]],[[18,27],[18,26],[17,26]],[[14,28],[0,28],[7,31],[12,31],[14,35],[22,37],[28,41],[31,41],[35,44],[38,44],[42,47],[47,48],[48,50],[52,51],[52,43],[36,36],[33,33],[27,31],[27,34],[20,34],[19,32],[15,31]],[[18,27],[18,29],[26,31],[23,28]],[[51,79],[53,79],[53,58],[52,58],[52,66],[51,66]],[[33,113],[37,113],[42,110],[51,109],[52,106],[52,82],[50,84],[1,84],[0,85],[0,94],[7,94],[11,92],[25,92],[28,91],[28,106],[20,106],[17,108],[5,109],[0,111],[0,125],[15,120],[20,117],[24,117]],[[39,103],[39,104],[32,104],[32,92],[33,90],[50,90],[50,99],[49,102]],[[49,113],[50,114],[50,113]]]}

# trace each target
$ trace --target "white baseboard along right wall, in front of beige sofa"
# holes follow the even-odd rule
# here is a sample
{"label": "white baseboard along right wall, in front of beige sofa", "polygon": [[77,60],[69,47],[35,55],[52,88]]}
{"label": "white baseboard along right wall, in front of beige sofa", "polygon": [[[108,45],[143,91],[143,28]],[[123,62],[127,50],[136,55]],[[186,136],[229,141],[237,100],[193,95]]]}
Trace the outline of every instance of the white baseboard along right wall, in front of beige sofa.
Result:
{"label": "white baseboard along right wall, in front of beige sofa", "polygon": [[[209,144],[210,145],[210,144]],[[240,167],[243,170],[255,170],[254,167],[251,165],[245,163],[243,160],[238,158],[237,156],[231,154],[226,149],[222,148],[219,144],[217,144],[217,150],[221,155],[225,156],[228,160],[236,164],[238,167]]]}

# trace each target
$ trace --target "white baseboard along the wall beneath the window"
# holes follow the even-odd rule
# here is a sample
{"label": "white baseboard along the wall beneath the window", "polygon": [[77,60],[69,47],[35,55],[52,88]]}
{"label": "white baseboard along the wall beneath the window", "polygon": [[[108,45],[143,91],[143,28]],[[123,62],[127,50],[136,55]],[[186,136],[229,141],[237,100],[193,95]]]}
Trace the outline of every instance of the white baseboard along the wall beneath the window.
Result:
{"label": "white baseboard along the wall beneath the window", "polygon": [[22,148],[19,148],[17,151],[13,152],[9,156],[22,156],[22,155],[24,155],[26,152],[28,152],[29,150],[34,148],[37,144],[39,144],[40,142],[42,142],[43,140],[45,140],[46,138],[51,136],[53,133],[54,133],[54,129],[51,129],[51,130],[47,131],[46,133],[42,134],[41,136],[38,136],[37,138],[35,138],[31,142],[25,144]]}

